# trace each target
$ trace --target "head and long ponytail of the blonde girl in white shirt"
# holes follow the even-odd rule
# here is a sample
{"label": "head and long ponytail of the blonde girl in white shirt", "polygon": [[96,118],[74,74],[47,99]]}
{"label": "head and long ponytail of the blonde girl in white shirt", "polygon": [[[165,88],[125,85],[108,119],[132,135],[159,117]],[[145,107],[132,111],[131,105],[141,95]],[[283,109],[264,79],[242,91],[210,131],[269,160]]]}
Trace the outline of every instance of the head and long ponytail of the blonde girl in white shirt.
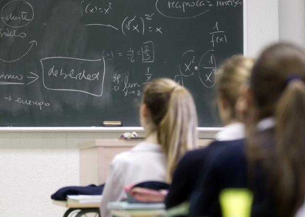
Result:
{"label": "head and long ponytail of the blonde girl in white shirt", "polygon": [[147,135],[156,133],[162,145],[171,181],[179,158],[197,144],[193,97],[171,79],[155,79],[144,88],[140,116]]}

